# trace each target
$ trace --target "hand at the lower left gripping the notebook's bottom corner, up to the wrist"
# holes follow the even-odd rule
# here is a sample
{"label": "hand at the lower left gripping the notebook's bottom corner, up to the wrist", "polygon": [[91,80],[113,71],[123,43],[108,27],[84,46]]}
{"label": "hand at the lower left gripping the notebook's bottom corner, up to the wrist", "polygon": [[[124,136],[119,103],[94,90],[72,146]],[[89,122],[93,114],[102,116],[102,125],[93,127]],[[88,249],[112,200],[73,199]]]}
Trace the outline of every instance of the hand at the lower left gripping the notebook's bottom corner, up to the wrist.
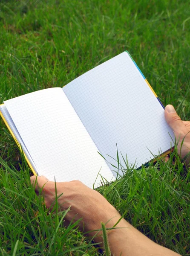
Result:
{"label": "hand at the lower left gripping the notebook's bottom corner, up to the wrist", "polygon": [[[37,182],[35,182],[36,178]],[[44,176],[32,176],[30,180],[37,194],[42,189],[46,207],[51,208],[55,202],[55,182],[49,181]],[[97,234],[97,231],[92,230],[101,229],[101,222],[104,224],[108,222],[107,228],[113,227],[121,218],[116,209],[99,192],[90,189],[78,180],[56,182],[56,189],[59,210],[67,210],[71,206],[64,218],[65,224],[68,225],[71,221],[75,222],[82,218],[79,228],[85,232],[91,231],[89,236],[98,235],[95,238],[96,242],[102,242],[102,237],[99,236],[101,232]]]}

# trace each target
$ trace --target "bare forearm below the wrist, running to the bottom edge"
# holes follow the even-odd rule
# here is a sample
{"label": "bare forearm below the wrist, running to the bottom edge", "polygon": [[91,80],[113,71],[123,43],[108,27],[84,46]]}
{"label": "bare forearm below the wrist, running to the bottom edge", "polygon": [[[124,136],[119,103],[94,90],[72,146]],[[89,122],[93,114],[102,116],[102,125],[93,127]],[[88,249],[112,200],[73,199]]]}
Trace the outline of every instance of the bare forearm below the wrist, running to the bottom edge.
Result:
{"label": "bare forearm below the wrist, running to the bottom edge", "polygon": [[[110,228],[121,216],[113,218],[106,225]],[[99,225],[101,226],[101,224]],[[127,221],[122,219],[116,229],[107,231],[109,248],[114,256],[177,256],[178,253],[162,247],[148,239],[141,232],[136,230]],[[96,236],[95,242],[101,242],[102,236]]]}

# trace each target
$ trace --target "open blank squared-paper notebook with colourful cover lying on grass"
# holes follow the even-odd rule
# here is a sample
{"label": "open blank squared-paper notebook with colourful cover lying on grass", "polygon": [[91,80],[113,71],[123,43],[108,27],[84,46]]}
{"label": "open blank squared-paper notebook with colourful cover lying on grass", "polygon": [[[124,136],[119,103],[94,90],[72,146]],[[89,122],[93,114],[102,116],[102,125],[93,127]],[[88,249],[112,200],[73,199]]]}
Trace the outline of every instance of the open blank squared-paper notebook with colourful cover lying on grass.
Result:
{"label": "open blank squared-paper notebook with colourful cover lying on grass", "polygon": [[52,181],[98,187],[122,175],[117,150],[123,168],[126,156],[138,168],[173,146],[164,108],[128,52],[63,88],[6,100],[0,114],[32,171]]}

